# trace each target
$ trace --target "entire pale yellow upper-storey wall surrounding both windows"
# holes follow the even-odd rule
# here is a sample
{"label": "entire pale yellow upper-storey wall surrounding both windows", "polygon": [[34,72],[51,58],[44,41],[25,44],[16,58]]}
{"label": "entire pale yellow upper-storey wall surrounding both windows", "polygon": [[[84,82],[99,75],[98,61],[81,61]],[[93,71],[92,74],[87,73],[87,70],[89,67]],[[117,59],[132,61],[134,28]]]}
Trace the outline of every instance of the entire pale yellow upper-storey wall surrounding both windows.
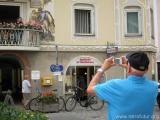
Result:
{"label": "entire pale yellow upper-storey wall surrounding both windows", "polygon": [[[55,40],[57,44],[62,45],[106,45],[107,41],[115,43],[116,26],[115,20],[120,19],[118,38],[119,45],[154,45],[151,40],[150,27],[147,25],[149,10],[153,7],[153,1],[149,4],[147,10],[147,2],[144,0],[129,1],[129,5],[140,6],[142,9],[142,36],[125,37],[124,36],[124,7],[128,4],[128,0],[119,0],[119,18],[115,15],[114,0],[54,0],[54,19],[55,19]],[[75,3],[92,4],[95,7],[95,36],[75,37],[73,31],[73,4]]]}

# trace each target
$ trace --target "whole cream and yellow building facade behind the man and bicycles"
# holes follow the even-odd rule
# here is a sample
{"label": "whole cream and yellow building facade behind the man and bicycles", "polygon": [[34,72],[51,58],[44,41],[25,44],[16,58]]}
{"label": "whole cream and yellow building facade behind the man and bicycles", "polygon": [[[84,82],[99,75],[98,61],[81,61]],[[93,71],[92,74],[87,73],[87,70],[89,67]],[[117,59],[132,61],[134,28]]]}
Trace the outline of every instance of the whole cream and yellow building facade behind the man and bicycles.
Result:
{"label": "whole cream and yellow building facade behind the man and bicycles", "polygon": [[[2,25],[25,21],[22,28],[1,27],[10,37],[1,37],[0,90],[18,94],[28,76],[35,93],[57,88],[68,95],[73,86],[87,88],[104,59],[136,50],[148,54],[146,76],[154,79],[153,8],[152,0],[0,0]],[[51,65],[63,66],[63,74],[55,75]],[[107,71],[104,80],[117,77],[126,77],[123,68]]]}

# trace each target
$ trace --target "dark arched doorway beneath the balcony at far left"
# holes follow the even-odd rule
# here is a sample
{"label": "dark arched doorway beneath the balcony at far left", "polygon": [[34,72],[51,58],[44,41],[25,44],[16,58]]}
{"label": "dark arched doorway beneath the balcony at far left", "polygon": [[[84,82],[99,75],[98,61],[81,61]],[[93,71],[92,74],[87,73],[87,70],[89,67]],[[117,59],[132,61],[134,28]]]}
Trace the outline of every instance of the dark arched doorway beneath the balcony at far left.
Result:
{"label": "dark arched doorway beneath the balcony at far left", "polygon": [[15,56],[0,56],[0,93],[4,100],[6,91],[12,92],[14,102],[21,102],[22,66]]}

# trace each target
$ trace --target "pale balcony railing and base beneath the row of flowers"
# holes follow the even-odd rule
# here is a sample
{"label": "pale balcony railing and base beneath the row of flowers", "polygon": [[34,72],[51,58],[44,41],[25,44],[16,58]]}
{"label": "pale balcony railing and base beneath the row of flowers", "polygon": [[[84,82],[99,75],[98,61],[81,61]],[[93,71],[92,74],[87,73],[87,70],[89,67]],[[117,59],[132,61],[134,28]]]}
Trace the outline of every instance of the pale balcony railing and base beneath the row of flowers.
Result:
{"label": "pale balcony railing and base beneath the row of flowers", "polygon": [[42,30],[0,28],[0,50],[40,50]]}

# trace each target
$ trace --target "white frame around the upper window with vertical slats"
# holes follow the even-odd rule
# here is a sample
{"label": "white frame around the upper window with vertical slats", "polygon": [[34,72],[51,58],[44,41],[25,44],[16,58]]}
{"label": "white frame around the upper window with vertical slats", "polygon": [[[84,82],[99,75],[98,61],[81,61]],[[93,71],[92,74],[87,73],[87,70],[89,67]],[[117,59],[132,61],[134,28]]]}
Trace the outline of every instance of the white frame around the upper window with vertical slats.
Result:
{"label": "white frame around the upper window with vertical slats", "polygon": [[[76,33],[75,30],[75,9],[91,11],[91,33]],[[77,3],[73,5],[73,31],[74,36],[95,36],[95,7],[92,4]]]}

